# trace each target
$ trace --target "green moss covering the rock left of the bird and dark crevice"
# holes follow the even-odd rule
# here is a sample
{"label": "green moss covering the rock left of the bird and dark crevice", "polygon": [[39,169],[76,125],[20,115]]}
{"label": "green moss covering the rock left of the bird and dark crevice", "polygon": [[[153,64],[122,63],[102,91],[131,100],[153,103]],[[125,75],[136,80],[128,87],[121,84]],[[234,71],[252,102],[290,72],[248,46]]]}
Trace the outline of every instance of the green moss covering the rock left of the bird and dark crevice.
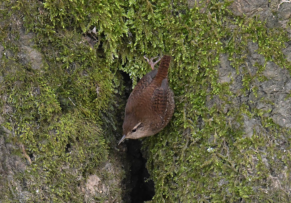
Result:
{"label": "green moss covering the rock left of the bird and dark crevice", "polygon": [[[120,201],[122,191],[117,185],[120,184],[118,181],[121,181],[124,171],[119,169],[114,171],[114,175],[107,174],[102,167],[109,159],[108,144],[115,141],[115,137],[107,132],[116,129],[117,121],[112,115],[116,111],[113,109],[113,94],[118,91],[121,82],[111,73],[109,64],[112,57],[108,63],[103,54],[98,52],[98,48],[103,44],[102,50],[110,49],[107,54],[111,55],[117,46],[117,38],[122,36],[123,31],[120,36],[112,36],[111,28],[114,26],[110,28],[111,22],[107,19],[103,23],[109,25],[98,30],[100,41],[94,48],[89,46],[86,36],[76,31],[82,27],[79,24],[81,21],[74,23],[72,31],[59,28],[63,25],[68,28],[66,20],[70,15],[57,14],[58,18],[64,19],[57,22],[52,18],[54,5],[49,5],[49,2],[45,6],[19,1],[5,3],[6,10],[1,12],[9,15],[4,18],[6,24],[1,26],[5,28],[6,35],[1,37],[4,52],[10,55],[3,55],[1,58],[1,104],[2,107],[5,105],[10,108],[2,111],[2,116],[7,121],[3,125],[13,132],[8,141],[24,144],[32,164],[14,177],[25,183],[20,189],[13,182],[7,183],[10,196],[3,201],[14,199],[25,202],[85,202],[95,199],[103,202],[110,199],[112,201],[114,198]],[[115,5],[116,7],[111,8],[120,8],[117,3]],[[96,8],[96,12],[100,9],[102,10]],[[46,15],[49,12],[52,15]],[[107,9],[104,12],[111,13]],[[18,28],[17,35],[14,35],[17,30],[7,32],[14,28],[13,20],[18,15],[24,15],[22,23],[26,26],[26,31],[36,33],[34,39],[30,40],[34,49],[42,56],[39,69],[33,69],[31,62],[26,63],[21,58],[25,49],[22,45],[19,46],[17,40],[22,31]],[[102,16],[105,20],[104,13]],[[122,15],[115,17],[122,20]],[[118,23],[116,19],[112,20]],[[90,25],[84,32],[89,27]],[[103,34],[106,38],[102,38]],[[113,38],[109,39],[109,35]],[[14,153],[25,160],[22,152]],[[104,192],[87,192],[87,196],[84,195],[86,179],[92,173],[102,179],[100,187],[103,185],[110,188],[110,196]],[[78,184],[80,187],[77,187]]]}

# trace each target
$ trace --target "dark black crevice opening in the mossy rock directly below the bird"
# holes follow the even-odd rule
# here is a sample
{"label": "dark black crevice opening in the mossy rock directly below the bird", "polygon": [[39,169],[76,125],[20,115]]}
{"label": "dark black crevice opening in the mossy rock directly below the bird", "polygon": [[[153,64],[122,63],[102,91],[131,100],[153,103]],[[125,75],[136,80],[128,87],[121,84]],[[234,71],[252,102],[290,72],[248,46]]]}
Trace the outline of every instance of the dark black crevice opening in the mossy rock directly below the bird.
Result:
{"label": "dark black crevice opening in the mossy rock directly below the bird", "polygon": [[129,187],[131,202],[143,203],[151,200],[155,195],[154,183],[148,180],[149,173],[145,168],[147,160],[141,154],[141,141],[131,140],[127,142],[127,158],[131,161],[131,179]]}

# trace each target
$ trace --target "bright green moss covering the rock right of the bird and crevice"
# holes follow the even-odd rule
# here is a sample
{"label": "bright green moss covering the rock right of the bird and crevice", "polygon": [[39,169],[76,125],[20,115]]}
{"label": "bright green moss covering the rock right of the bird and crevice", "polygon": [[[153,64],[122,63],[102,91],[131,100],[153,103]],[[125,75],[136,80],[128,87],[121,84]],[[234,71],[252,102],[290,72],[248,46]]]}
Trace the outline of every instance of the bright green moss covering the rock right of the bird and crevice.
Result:
{"label": "bright green moss covering the rock right of the bird and crevice", "polygon": [[[177,21],[179,17],[171,15],[166,18],[172,18],[173,22],[167,27],[171,29],[168,32],[177,32],[177,38],[173,38],[175,44],[167,43],[168,47],[174,47],[172,54],[175,57],[171,69],[173,75],[170,74],[169,78],[176,96],[176,110],[172,123],[163,133],[143,142],[144,148],[149,151],[147,167],[156,189],[151,202],[286,200],[286,194],[279,189],[268,190],[268,197],[265,195],[263,187],[273,183],[262,156],[267,155],[270,160],[277,147],[268,145],[265,149],[268,138],[262,131],[272,128],[273,135],[282,133],[287,136],[288,133],[284,133],[278,125],[271,125],[272,122],[265,124],[266,119],[270,121],[263,116],[266,112],[258,109],[250,112],[246,103],[242,103],[240,108],[236,107],[233,103],[235,100],[232,100],[236,95],[229,91],[229,84],[217,82],[216,66],[219,63],[219,53],[228,53],[231,65],[236,68],[237,74],[242,75],[241,91],[246,93],[251,90],[256,95],[257,87],[254,83],[267,80],[262,75],[267,61],[290,68],[290,62],[281,51],[285,48],[283,42],[288,41],[288,38],[281,28],[268,29],[264,22],[256,18],[236,17],[237,22],[233,23],[229,17],[225,17],[225,13],[232,16],[225,9],[226,5],[217,3],[208,7],[209,13],[199,14],[199,17],[193,9],[179,15],[187,20]],[[228,27],[233,24],[235,29],[229,30]],[[187,30],[187,27],[191,29]],[[175,35],[171,34],[173,36]],[[164,40],[166,41],[166,37]],[[182,43],[179,44],[181,40]],[[254,75],[245,67],[244,61],[249,41],[256,42],[257,52],[265,57],[264,64],[255,64],[257,71]],[[220,104],[206,107],[207,97],[213,98],[214,95],[219,96]],[[226,106],[227,114],[223,112]],[[244,137],[243,114],[247,114],[249,118],[260,115],[263,127],[259,135],[254,130],[251,138]],[[200,128],[197,127],[199,118],[203,122]],[[257,150],[258,148],[261,150]],[[284,152],[278,150],[276,153]],[[266,178],[270,180],[268,183],[264,183]]]}

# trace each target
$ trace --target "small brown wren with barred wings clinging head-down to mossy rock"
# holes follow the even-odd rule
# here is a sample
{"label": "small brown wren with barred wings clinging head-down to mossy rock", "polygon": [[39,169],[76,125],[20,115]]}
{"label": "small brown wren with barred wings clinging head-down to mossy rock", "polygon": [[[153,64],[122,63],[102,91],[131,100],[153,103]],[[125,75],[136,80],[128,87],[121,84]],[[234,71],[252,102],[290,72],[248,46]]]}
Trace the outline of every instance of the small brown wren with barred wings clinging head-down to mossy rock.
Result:
{"label": "small brown wren with barred wings clinging head-down to mossy rock", "polygon": [[[143,56],[152,71],[145,74],[134,87],[125,107],[123,137],[137,139],[154,135],[161,131],[171,120],[174,112],[174,93],[168,85],[168,68],[171,56],[164,55],[150,60]],[[153,62],[155,58],[159,58]],[[159,69],[154,65],[161,60]]]}

